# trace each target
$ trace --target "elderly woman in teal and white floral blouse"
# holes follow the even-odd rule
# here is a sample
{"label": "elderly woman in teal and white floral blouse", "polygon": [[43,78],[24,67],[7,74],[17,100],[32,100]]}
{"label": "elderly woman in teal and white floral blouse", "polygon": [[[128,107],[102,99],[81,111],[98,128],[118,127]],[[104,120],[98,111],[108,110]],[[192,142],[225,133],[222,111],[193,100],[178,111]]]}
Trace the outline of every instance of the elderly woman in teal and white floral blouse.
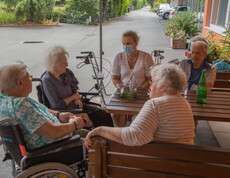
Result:
{"label": "elderly woman in teal and white floral blouse", "polygon": [[26,68],[21,62],[0,67],[0,120],[11,118],[20,124],[28,149],[64,139],[81,129],[82,118],[68,112],[59,115],[28,97],[32,76]]}

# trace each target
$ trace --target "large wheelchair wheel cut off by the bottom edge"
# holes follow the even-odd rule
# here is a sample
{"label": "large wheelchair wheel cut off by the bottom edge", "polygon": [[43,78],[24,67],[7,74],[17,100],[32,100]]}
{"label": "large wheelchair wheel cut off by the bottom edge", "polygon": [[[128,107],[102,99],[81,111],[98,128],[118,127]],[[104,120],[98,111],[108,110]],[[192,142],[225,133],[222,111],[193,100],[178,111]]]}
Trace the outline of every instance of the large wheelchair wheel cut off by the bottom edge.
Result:
{"label": "large wheelchair wheel cut off by the bottom edge", "polygon": [[42,163],[32,166],[16,178],[78,178],[73,169],[57,162]]}

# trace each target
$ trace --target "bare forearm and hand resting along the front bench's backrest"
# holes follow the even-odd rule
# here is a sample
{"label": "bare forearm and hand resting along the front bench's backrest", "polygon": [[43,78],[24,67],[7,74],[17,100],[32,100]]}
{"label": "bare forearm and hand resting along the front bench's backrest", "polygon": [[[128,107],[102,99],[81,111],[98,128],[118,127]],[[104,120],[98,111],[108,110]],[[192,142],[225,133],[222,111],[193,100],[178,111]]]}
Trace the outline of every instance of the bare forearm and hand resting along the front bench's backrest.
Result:
{"label": "bare forearm and hand resting along the front bench's backrest", "polygon": [[124,144],[121,139],[121,128],[112,128],[112,127],[102,126],[102,127],[97,127],[96,129],[88,133],[85,139],[85,146],[87,149],[89,149],[89,147],[92,145],[91,137],[96,136],[96,135],[99,135],[109,140]]}

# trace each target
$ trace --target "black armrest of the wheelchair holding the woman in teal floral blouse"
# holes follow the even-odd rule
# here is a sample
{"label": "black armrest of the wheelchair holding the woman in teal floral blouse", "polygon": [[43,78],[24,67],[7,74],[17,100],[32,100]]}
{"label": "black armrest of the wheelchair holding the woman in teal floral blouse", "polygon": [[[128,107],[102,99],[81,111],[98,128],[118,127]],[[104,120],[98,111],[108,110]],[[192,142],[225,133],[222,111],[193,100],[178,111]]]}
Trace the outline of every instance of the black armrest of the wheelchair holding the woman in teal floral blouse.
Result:
{"label": "black armrest of the wheelchair holding the woman in teal floral blouse", "polygon": [[35,157],[44,153],[48,153],[49,151],[55,150],[57,148],[66,146],[66,145],[70,145],[76,142],[80,141],[80,135],[73,135],[72,137],[39,147],[37,149],[34,150],[30,150],[27,152],[27,157],[31,158],[31,157]]}

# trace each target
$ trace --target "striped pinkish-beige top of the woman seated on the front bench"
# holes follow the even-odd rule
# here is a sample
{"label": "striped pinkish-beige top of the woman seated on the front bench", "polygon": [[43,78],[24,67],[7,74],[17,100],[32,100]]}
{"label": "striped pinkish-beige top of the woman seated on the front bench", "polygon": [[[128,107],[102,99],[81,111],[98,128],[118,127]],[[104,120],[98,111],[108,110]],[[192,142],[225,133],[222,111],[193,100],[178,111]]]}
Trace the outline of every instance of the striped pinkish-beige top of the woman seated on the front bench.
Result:
{"label": "striped pinkish-beige top of the woman seated on the front bench", "polygon": [[129,127],[122,128],[125,145],[151,141],[194,144],[194,119],[189,103],[179,94],[148,100]]}

